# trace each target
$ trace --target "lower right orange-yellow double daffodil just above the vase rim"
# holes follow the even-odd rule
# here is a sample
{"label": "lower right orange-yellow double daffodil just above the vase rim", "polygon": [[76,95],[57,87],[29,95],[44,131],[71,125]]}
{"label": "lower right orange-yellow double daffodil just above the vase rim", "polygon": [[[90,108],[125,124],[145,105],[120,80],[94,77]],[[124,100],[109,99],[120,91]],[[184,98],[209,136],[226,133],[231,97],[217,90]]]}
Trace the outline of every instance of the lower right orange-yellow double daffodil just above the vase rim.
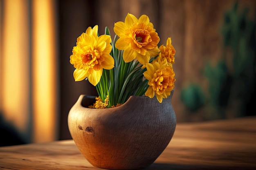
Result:
{"label": "lower right orange-yellow double daffodil just above the vase rim", "polygon": [[148,89],[145,92],[145,95],[153,98],[155,95],[157,100],[162,103],[163,98],[167,98],[171,95],[171,91],[174,87],[174,78],[173,67],[167,64],[167,60],[162,62],[154,62],[153,64],[146,64],[147,71],[143,75],[148,79]]}

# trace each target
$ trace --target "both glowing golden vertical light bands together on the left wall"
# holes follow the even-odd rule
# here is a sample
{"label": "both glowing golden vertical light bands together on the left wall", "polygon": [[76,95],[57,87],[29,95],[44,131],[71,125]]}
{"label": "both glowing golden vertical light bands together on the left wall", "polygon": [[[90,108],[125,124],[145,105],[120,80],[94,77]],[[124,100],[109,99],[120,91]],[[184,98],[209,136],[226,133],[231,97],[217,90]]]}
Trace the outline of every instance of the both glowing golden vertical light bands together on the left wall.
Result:
{"label": "both glowing golden vertical light bands together on the left wall", "polygon": [[0,112],[27,142],[58,138],[54,3],[0,1]]}

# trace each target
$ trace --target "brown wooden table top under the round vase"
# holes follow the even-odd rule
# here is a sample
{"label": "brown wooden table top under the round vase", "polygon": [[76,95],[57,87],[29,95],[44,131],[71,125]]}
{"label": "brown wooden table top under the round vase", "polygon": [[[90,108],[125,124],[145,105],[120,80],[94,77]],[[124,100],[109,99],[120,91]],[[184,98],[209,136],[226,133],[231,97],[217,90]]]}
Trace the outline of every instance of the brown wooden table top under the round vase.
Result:
{"label": "brown wooden table top under the round vase", "polygon": [[[73,140],[0,147],[1,170],[99,170]],[[256,117],[177,124],[145,170],[256,170]]]}

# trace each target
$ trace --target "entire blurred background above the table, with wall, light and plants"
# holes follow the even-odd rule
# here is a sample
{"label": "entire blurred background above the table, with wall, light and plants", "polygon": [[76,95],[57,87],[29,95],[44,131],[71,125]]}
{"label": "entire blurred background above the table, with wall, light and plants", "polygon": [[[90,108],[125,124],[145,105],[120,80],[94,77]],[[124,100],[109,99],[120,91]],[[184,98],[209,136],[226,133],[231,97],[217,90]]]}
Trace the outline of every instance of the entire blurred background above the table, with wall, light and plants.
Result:
{"label": "entire blurred background above the table, with wall, light and plants", "polygon": [[146,14],[176,50],[177,123],[254,116],[255,0],[0,0],[0,146],[71,139],[67,115],[79,95],[76,38],[127,13]]}

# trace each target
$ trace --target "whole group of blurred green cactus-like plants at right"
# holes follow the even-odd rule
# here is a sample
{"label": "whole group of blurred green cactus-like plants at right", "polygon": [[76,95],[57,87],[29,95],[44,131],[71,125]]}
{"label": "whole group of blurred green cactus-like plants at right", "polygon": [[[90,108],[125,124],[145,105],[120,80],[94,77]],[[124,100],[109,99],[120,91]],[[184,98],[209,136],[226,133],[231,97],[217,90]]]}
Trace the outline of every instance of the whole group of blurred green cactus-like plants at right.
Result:
{"label": "whole group of blurred green cactus-like plants at right", "polygon": [[189,110],[196,111],[209,101],[217,109],[217,117],[226,116],[227,106],[236,111],[235,116],[255,115],[249,110],[256,99],[256,23],[249,19],[248,12],[249,8],[245,8],[240,13],[237,1],[225,12],[220,31],[221,60],[216,66],[207,62],[204,68],[209,99],[202,100],[204,95],[198,90],[202,88],[191,84],[181,93],[182,102]]}

